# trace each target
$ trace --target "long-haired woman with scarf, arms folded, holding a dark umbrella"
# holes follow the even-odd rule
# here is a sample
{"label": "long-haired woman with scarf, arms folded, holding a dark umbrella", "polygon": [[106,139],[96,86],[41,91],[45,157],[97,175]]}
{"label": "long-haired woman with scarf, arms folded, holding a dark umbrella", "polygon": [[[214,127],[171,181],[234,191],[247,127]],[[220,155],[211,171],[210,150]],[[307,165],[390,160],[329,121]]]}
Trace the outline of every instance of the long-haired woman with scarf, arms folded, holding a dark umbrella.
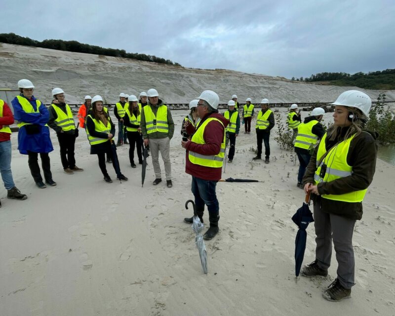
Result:
{"label": "long-haired woman with scarf, arms folded, holding a dark umbrella", "polygon": [[103,110],[103,99],[100,95],[92,98],[92,110],[86,117],[86,134],[90,144],[90,154],[97,155],[99,158],[99,167],[103,173],[104,181],[112,183],[106,168],[107,153],[113,162],[114,170],[117,173],[117,179],[127,181],[127,178],[120,172],[117,148],[113,142],[115,134],[115,125],[111,121],[108,112]]}

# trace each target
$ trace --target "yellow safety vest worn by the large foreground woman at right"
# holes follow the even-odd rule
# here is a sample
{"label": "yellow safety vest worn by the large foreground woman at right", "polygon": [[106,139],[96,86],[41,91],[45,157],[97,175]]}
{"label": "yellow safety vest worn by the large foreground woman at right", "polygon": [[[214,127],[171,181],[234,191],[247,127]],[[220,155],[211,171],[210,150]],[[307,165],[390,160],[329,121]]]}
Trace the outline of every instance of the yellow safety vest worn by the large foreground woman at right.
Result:
{"label": "yellow safety vest worn by the large foreground woman at right", "polygon": [[[336,179],[351,176],[353,174],[353,167],[347,163],[347,155],[350,149],[350,143],[354,139],[355,135],[356,134],[352,135],[345,141],[342,141],[341,143],[335,145],[323,159],[321,164],[318,165],[319,160],[326,153],[326,133],[324,136],[322,136],[322,139],[318,145],[318,152],[316,158],[317,170],[316,174],[314,175],[315,185],[321,182],[331,182]],[[324,177],[321,178],[319,174],[321,172],[321,167],[323,164],[326,165],[326,172]],[[362,202],[366,191],[367,189],[338,195],[325,194],[321,195],[321,197],[343,202]]]}

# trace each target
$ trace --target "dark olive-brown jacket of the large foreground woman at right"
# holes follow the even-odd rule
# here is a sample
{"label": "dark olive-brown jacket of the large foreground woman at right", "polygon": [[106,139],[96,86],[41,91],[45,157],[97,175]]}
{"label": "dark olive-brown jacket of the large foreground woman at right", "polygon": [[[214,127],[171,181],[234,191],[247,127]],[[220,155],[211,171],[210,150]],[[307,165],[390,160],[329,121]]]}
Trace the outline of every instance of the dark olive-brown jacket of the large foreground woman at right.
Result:
{"label": "dark olive-brown jacket of the large foreground woman at right", "polygon": [[[342,134],[344,135],[345,133]],[[356,136],[350,143],[347,155],[347,163],[353,167],[353,174],[334,181],[319,183],[319,194],[336,195],[366,189],[372,182],[376,170],[377,144],[375,139],[377,137],[377,132],[368,131],[363,131]],[[326,150],[336,142],[325,139]],[[314,183],[317,151],[318,146],[316,146],[316,150],[306,168],[303,184]],[[355,220],[362,218],[362,202],[335,201],[316,195],[313,195],[313,200],[315,203],[321,203],[321,209],[325,213],[337,214]]]}

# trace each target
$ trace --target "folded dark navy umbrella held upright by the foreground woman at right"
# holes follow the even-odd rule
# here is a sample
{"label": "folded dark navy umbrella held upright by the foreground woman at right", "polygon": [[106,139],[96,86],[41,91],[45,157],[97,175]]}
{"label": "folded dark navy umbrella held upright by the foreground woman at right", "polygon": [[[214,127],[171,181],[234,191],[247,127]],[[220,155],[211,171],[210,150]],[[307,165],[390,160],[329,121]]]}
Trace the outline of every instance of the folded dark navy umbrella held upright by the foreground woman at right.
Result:
{"label": "folded dark navy umbrella held upright by the foreground woman at right", "polygon": [[302,207],[292,216],[293,222],[298,225],[299,230],[295,238],[295,275],[299,276],[302,267],[303,257],[306,249],[306,228],[309,223],[313,223],[313,214],[309,209],[310,192],[306,195]]}

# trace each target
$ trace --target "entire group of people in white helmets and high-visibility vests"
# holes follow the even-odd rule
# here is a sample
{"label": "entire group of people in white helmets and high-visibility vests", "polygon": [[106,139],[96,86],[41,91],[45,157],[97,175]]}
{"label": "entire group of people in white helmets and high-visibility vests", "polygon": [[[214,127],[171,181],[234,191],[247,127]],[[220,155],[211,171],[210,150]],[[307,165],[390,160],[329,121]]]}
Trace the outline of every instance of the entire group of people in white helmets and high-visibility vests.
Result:
{"label": "entire group of people in white helmets and high-visibility vests", "polygon": [[[10,168],[11,144],[9,125],[14,118],[19,127],[18,149],[28,155],[28,163],[34,181],[39,188],[45,184],[55,186],[50,170],[48,153],[53,150],[49,137],[49,127],[56,131],[64,172],[72,174],[82,171],[76,165],[74,144],[78,137],[70,107],[65,103],[64,91],[52,90],[53,103],[49,110],[33,96],[33,83],[30,80],[18,81],[20,94],[12,100],[14,117],[8,105],[0,100],[0,170],[7,197],[26,199],[16,188]],[[161,170],[158,162],[161,153],[167,187],[172,187],[169,143],[174,133],[174,122],[169,108],[158,98],[156,89],[140,94],[140,102],[135,95],[120,94],[117,103],[118,143],[128,140],[129,159],[132,168],[134,149],[137,148],[138,162],[142,163],[141,149],[150,146],[155,172],[153,185],[158,185]],[[148,98],[148,100],[147,100]],[[127,101],[127,102],[126,102]],[[249,103],[248,103],[249,102]],[[211,239],[219,232],[219,202],[216,184],[221,179],[227,139],[230,142],[229,162],[235,153],[236,137],[240,129],[239,104],[233,95],[228,102],[229,109],[218,112],[219,96],[211,90],[203,91],[191,101],[190,113],[183,120],[181,146],[186,149],[186,173],[192,176],[191,190],[195,197],[196,213],[203,222],[204,208],[207,206],[209,228],[204,234]],[[288,126],[294,131],[295,152],[300,161],[297,186],[311,194],[314,202],[316,232],[316,259],[303,268],[303,276],[327,276],[331,262],[332,241],[338,262],[337,278],[323,292],[329,301],[340,301],[351,295],[355,284],[355,262],[352,237],[356,220],[362,217],[362,200],[372,182],[375,172],[377,133],[363,130],[371,108],[371,99],[361,91],[343,92],[332,103],[335,106],[333,125],[325,131],[320,123],[325,111],[313,110],[311,116],[302,122],[293,104],[288,114]],[[255,131],[258,152],[254,160],[261,159],[262,142],[265,144],[265,162],[269,163],[270,131],[275,125],[273,112],[268,99],[261,101],[257,114]],[[245,133],[250,133],[250,122],[254,115],[251,99],[243,106],[242,117]],[[111,159],[119,180],[127,178],[121,173],[117,147],[113,138],[115,124],[104,107],[103,98],[95,95],[85,97],[79,109],[79,126],[86,129],[91,154],[97,155],[104,180],[111,183],[107,173],[105,155]],[[126,129],[124,138],[123,128]],[[122,132],[120,132],[122,130]],[[120,132],[120,133],[119,133]],[[40,174],[38,155],[44,173],[45,184]],[[192,223],[193,217],[185,218]]]}

